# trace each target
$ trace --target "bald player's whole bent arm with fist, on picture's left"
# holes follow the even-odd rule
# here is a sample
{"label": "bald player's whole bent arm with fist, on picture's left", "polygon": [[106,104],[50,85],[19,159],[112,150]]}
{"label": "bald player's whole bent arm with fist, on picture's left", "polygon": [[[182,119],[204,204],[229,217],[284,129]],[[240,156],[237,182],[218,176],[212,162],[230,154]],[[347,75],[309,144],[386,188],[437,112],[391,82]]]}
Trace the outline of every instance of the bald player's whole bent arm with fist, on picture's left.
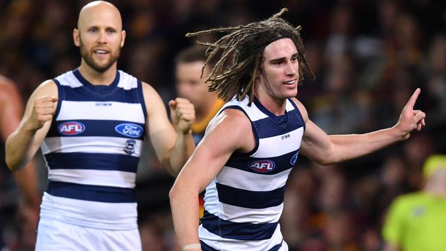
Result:
{"label": "bald player's whole bent arm with fist, on picture's left", "polygon": [[6,141],[6,165],[20,170],[36,154],[48,133],[56,111],[58,89],[52,80],[40,84],[28,99],[19,127]]}

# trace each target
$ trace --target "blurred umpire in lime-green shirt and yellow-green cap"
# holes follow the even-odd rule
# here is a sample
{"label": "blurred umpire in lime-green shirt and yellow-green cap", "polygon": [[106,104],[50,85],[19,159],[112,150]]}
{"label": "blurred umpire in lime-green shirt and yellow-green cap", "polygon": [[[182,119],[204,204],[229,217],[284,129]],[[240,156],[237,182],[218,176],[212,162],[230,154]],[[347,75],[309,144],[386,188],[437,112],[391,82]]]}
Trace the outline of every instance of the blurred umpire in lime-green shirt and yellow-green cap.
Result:
{"label": "blurred umpire in lime-green shirt and yellow-green cap", "polygon": [[422,191],[397,197],[382,235],[387,251],[446,251],[446,155],[433,155],[423,166]]}

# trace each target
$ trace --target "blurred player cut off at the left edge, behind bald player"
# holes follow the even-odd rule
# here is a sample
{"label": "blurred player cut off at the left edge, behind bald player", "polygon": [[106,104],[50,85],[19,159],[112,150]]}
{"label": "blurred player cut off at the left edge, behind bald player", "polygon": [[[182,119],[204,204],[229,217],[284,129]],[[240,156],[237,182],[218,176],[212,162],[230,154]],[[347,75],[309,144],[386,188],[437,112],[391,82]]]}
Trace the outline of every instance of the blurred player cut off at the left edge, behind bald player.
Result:
{"label": "blurred player cut off at the left edge, behind bald player", "polygon": [[[0,75],[0,187],[1,191],[9,193],[0,193],[0,247],[3,243],[3,230],[5,224],[17,223],[14,217],[8,217],[9,211],[19,208],[19,235],[15,243],[8,243],[12,248],[20,250],[34,250],[36,242],[36,226],[38,221],[38,208],[40,205],[40,192],[38,189],[36,170],[33,162],[20,171],[12,172],[16,184],[21,189],[23,198],[17,200],[17,193],[14,193],[14,181],[11,179],[11,173],[5,165],[5,150],[3,143],[8,136],[19,126],[23,115],[22,99],[17,91],[15,84],[6,77]],[[19,202],[19,204],[16,204]],[[14,227],[13,227],[14,229]],[[11,230],[8,230],[11,231]]]}

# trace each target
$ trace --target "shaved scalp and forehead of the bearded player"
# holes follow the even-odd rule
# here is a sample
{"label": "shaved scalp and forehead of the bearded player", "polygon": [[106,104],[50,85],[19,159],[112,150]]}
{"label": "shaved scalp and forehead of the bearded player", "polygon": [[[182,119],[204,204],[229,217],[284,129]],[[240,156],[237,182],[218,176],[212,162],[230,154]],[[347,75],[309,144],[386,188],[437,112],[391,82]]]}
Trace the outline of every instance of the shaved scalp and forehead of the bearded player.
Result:
{"label": "shaved scalp and forehead of the bearded player", "polygon": [[106,21],[117,31],[122,30],[121,13],[107,1],[93,1],[85,5],[79,12],[78,29],[95,26],[98,21]]}

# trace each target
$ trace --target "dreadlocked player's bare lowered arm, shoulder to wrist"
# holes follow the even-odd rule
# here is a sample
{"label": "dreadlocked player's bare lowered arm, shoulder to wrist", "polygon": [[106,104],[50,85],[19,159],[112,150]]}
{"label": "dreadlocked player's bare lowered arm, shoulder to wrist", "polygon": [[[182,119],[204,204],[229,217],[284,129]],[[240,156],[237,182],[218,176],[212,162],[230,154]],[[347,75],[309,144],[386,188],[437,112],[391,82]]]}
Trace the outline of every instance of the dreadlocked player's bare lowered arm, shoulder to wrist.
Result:
{"label": "dreadlocked player's bare lowered arm, shoulder to wrist", "polygon": [[241,111],[224,110],[211,121],[169,193],[176,237],[181,247],[200,243],[198,194],[217,176],[233,152],[248,152],[254,146],[250,121]]}

